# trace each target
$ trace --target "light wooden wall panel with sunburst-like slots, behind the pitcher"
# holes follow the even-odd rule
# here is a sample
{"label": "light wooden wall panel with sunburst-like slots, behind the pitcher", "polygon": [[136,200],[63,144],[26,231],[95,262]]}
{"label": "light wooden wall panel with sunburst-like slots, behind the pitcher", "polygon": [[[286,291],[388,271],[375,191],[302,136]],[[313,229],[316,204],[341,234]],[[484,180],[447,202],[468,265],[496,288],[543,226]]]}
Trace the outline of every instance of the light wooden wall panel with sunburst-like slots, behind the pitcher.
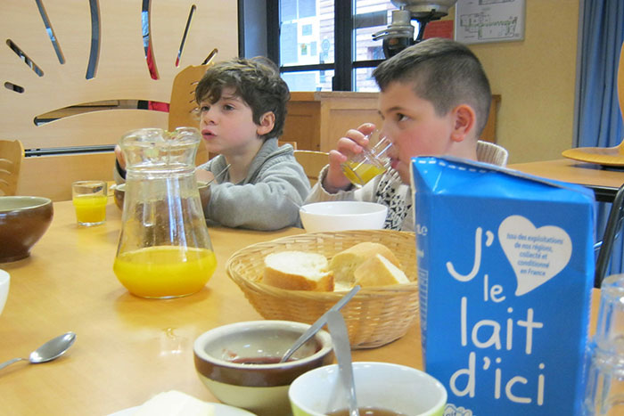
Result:
{"label": "light wooden wall panel with sunburst-like slots, behind the pitcher", "polygon": [[[168,102],[173,79],[189,65],[199,65],[214,49],[214,61],[238,54],[237,2],[221,0],[167,0],[151,2],[151,38],[158,79],[152,79],[145,59],[141,9],[142,0],[99,0],[99,53],[94,77],[86,69],[92,45],[92,24],[88,0],[42,2],[64,61],[59,61],[45,29],[36,2],[0,2],[0,137],[19,139],[25,149],[117,143],[128,130],[141,127],[167,128],[167,114],[124,106],[35,123],[49,113],[62,114],[70,106],[91,102]],[[191,11],[185,46],[178,50]],[[226,35],[225,35],[226,34]],[[21,53],[7,44],[11,41]],[[11,43],[9,42],[9,43]],[[26,58],[28,57],[28,59]],[[37,74],[28,62],[34,62]],[[7,86],[17,85],[23,91]],[[91,109],[93,110],[93,108]],[[109,177],[111,166],[95,167],[92,162],[110,161],[107,156],[71,155],[60,159],[27,158],[21,175],[21,194],[49,194],[53,199],[69,198],[67,181],[94,174]],[[205,159],[205,157],[204,157]],[[67,166],[68,163],[76,167]],[[41,168],[42,170],[38,170]],[[52,168],[53,171],[46,169]],[[77,170],[78,169],[78,170]],[[84,175],[78,175],[82,169]],[[58,188],[53,186],[57,178]],[[104,179],[105,177],[102,177]]]}

